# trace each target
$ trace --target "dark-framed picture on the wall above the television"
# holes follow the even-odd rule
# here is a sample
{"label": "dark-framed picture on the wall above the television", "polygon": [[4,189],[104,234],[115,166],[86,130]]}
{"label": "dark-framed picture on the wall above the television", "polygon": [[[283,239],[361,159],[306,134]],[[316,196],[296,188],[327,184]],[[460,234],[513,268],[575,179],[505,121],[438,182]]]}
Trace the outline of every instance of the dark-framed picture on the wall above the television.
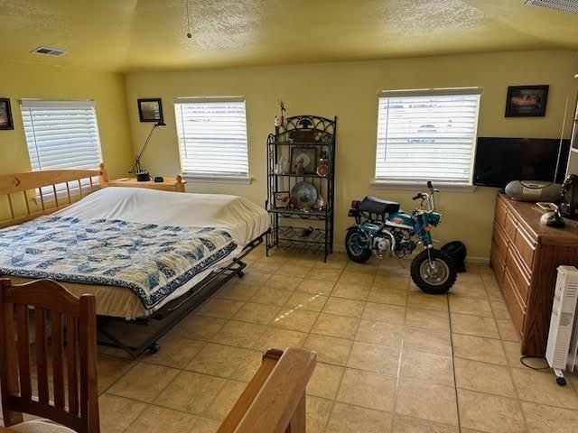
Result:
{"label": "dark-framed picture on the wall above the television", "polygon": [[548,85],[508,87],[506,117],[544,117],[549,88]]}

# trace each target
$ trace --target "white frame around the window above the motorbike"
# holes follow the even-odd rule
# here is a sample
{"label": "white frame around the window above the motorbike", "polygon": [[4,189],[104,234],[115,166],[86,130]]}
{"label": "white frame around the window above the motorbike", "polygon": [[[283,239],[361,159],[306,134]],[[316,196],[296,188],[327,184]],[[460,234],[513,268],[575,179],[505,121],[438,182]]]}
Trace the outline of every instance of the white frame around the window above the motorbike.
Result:
{"label": "white frame around the window above the motorbike", "polygon": [[[380,154],[379,149],[379,117],[380,117],[380,105],[381,99],[384,97],[448,97],[454,95],[469,95],[478,96],[478,105],[476,107],[476,121],[474,125],[474,131],[472,134],[471,143],[471,162],[470,162],[470,177],[467,182],[463,181],[442,181],[442,180],[432,180],[436,186],[442,187],[443,189],[456,189],[456,190],[474,190],[476,187],[473,185],[473,166],[477,145],[478,137],[478,127],[480,123],[480,103],[481,95],[483,93],[483,88],[471,87],[471,88],[421,88],[421,89],[400,89],[400,90],[384,90],[378,93],[378,110],[377,110],[377,125],[376,125],[376,153],[374,161],[374,179],[371,182],[373,187],[384,187],[391,189],[409,189],[415,187],[423,187],[425,184],[424,179],[391,179],[387,177],[378,177],[378,158],[385,157],[385,155]],[[385,148],[384,148],[385,150]]]}

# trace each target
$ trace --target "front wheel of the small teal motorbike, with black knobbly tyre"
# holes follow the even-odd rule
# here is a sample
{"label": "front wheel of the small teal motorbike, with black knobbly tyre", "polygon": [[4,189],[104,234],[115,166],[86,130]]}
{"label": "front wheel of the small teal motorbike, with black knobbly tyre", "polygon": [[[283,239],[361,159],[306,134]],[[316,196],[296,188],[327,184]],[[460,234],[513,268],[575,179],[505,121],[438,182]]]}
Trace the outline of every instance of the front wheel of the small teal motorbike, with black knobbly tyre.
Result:
{"label": "front wheel of the small teal motorbike, with black knobbly tyre", "polygon": [[[431,258],[431,262],[430,262]],[[412,280],[425,293],[443,294],[450,290],[458,272],[452,258],[440,250],[424,250],[417,254],[411,266]]]}

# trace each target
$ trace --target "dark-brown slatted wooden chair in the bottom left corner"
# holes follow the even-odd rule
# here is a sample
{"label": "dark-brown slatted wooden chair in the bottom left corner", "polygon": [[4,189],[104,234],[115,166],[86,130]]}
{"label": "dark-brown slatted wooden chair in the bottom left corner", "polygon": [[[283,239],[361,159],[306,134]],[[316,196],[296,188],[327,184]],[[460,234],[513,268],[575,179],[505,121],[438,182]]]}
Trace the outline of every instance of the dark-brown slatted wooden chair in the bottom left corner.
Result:
{"label": "dark-brown slatted wooden chair in the bottom left corner", "polygon": [[[76,298],[50,280],[13,285],[2,279],[0,320],[0,384],[5,426],[15,425],[14,431],[20,432],[60,432],[71,428],[78,433],[98,433],[94,296]],[[36,381],[31,374],[31,359],[35,361],[32,365],[35,364]],[[33,382],[37,382],[37,395]],[[59,425],[45,420],[23,423],[23,413]]]}

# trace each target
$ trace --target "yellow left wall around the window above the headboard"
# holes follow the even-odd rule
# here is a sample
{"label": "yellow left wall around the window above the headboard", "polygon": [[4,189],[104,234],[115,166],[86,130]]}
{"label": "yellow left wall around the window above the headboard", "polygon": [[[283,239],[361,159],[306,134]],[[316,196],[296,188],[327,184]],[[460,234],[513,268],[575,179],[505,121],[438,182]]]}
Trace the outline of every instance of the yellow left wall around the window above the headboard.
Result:
{"label": "yellow left wall around the window above the headboard", "polygon": [[112,176],[125,176],[132,148],[126,110],[125,80],[121,74],[89,72],[39,65],[2,62],[0,97],[10,97],[14,131],[0,131],[0,174],[30,170],[20,100],[94,99],[103,159]]}

